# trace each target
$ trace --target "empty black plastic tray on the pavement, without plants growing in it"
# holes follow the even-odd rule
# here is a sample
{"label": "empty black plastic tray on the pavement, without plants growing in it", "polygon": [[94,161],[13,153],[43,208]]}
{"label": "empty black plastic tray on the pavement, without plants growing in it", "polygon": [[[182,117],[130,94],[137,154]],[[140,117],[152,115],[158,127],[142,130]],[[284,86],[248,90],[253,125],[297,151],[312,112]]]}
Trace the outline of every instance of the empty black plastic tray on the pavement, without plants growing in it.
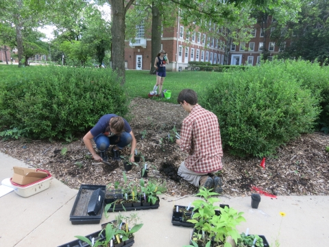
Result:
{"label": "empty black plastic tray on the pavement, without plants growing in it", "polygon": [[79,192],[77,193],[77,198],[73,204],[73,208],[70,214],[70,220],[72,224],[99,224],[101,221],[101,216],[103,215],[104,204],[102,204],[101,209],[97,215],[88,215],[88,203],[93,191],[101,188],[104,193],[105,185],[81,185]]}

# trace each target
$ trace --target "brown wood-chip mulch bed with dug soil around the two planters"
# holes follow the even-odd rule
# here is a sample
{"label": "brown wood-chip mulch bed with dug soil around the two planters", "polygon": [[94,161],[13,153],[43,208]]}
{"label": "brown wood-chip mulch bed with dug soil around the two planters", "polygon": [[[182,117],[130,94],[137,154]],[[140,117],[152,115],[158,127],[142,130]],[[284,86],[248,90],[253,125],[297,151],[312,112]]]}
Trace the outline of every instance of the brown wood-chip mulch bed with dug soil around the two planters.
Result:
{"label": "brown wood-chip mulch bed with dug soil around the two planters", "polygon": [[[128,120],[137,139],[137,150],[143,154],[149,168],[145,180],[165,181],[170,196],[197,193],[196,187],[177,175],[187,154],[175,144],[172,132],[173,126],[180,132],[182,120],[188,113],[179,104],[143,98],[133,99],[130,110]],[[224,150],[223,169],[218,174],[223,180],[223,196],[249,196],[254,193],[253,186],[273,195],[329,195],[328,146],[328,134],[302,134],[268,157],[265,169],[260,167],[260,158],[238,158]],[[123,159],[109,161],[111,165],[94,161],[82,137],[71,143],[26,139],[0,141],[0,152],[31,167],[47,169],[71,188],[79,189],[82,184],[113,185],[115,181],[123,184]],[[121,152],[121,156],[129,154],[130,148]],[[108,155],[112,156],[110,148]],[[143,165],[143,160],[138,166],[132,165],[126,172],[127,183],[139,184]]]}

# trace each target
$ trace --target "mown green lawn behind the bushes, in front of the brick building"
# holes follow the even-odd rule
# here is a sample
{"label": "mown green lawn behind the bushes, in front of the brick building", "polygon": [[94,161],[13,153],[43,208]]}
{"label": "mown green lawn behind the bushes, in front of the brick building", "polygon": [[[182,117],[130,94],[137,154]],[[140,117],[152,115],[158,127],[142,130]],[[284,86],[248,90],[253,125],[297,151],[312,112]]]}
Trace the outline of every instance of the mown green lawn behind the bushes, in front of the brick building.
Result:
{"label": "mown green lawn behind the bushes, in front of the brick building", "polygon": [[[30,66],[19,68],[17,65],[0,64],[0,78],[5,78],[22,70],[34,71],[40,69],[39,66]],[[208,84],[218,80],[221,73],[208,71],[184,71],[184,72],[167,72],[167,77],[164,80],[162,90],[171,91],[171,99],[154,98],[154,100],[171,102],[177,104],[178,93],[182,89],[193,89],[199,96],[203,95]],[[147,98],[156,84],[156,75],[150,75],[149,71],[127,70],[125,72],[125,90],[129,97],[144,97]]]}

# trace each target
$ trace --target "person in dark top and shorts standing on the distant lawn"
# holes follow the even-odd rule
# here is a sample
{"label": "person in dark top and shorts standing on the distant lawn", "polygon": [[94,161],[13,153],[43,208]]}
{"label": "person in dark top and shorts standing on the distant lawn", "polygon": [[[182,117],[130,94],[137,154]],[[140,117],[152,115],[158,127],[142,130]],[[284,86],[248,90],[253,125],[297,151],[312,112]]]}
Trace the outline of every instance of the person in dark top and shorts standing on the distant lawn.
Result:
{"label": "person in dark top and shorts standing on the distant lawn", "polygon": [[[153,93],[159,96],[162,92],[162,84],[166,77],[166,64],[169,64],[167,53],[162,49],[159,51],[156,60],[154,60],[154,67],[156,68],[156,85],[153,88]],[[156,92],[159,86],[159,93]]]}

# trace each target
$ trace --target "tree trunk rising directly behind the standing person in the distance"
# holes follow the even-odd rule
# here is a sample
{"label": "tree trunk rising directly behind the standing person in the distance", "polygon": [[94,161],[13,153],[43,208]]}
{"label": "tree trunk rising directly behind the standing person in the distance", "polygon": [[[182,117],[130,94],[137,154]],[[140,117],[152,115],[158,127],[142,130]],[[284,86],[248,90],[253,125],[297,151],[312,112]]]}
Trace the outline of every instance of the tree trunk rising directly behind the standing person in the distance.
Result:
{"label": "tree trunk rising directly behind the standing person in the distance", "polygon": [[156,55],[161,49],[161,27],[162,19],[160,16],[160,11],[156,7],[154,1],[152,1],[152,34],[151,34],[151,69],[150,74],[155,74],[154,60],[156,60]]}

